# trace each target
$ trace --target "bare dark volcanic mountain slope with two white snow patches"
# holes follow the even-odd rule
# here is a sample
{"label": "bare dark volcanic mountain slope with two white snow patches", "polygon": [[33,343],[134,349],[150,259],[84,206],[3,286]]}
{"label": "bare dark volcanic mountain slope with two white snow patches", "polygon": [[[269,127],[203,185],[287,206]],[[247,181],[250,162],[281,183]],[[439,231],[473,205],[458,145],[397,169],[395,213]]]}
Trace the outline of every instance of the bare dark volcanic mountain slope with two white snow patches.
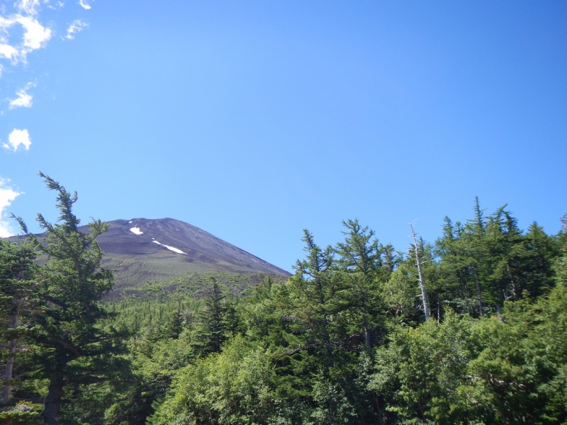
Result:
{"label": "bare dark volcanic mountain slope with two white snow patches", "polygon": [[[115,273],[115,290],[166,282],[191,273],[267,273],[291,276],[247,251],[172,218],[113,220],[96,240],[103,267]],[[81,226],[88,232],[88,226]],[[38,235],[39,237],[43,234]],[[16,237],[10,238],[15,240]]]}

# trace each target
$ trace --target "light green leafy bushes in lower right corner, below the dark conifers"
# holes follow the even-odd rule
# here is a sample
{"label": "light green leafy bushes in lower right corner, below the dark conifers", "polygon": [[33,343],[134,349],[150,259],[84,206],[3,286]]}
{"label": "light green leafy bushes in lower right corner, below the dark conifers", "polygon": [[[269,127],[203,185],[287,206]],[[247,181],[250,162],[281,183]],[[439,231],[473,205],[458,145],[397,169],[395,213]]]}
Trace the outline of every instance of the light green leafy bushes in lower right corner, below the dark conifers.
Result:
{"label": "light green leafy bushes in lower right corner, below the dark conifers", "polygon": [[[369,387],[403,423],[556,424],[567,419],[566,299],[507,305],[501,317],[447,312],[378,348]],[[391,419],[394,420],[394,419]]]}

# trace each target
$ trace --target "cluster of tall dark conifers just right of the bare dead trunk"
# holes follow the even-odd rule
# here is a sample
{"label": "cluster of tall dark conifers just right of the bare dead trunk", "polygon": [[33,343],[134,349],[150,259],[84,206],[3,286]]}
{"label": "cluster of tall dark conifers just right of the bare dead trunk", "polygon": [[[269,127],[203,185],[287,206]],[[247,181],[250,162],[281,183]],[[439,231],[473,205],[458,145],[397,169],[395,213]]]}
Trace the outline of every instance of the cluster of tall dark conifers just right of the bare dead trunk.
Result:
{"label": "cluster of tall dark conifers just right of the bare dead trunk", "polygon": [[535,222],[523,234],[505,206],[485,218],[477,199],[474,211],[465,225],[445,217],[435,244],[445,300],[459,312],[483,316],[505,301],[544,295],[553,286],[557,238]]}

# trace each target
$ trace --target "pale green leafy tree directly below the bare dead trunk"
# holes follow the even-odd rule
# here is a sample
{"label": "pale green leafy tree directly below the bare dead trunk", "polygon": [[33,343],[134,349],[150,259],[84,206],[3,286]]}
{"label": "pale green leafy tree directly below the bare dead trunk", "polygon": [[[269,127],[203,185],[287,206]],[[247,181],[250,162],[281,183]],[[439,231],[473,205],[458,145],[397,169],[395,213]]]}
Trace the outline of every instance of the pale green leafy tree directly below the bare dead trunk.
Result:
{"label": "pale green leafy tree directly below the bare dead trunk", "polygon": [[390,334],[389,344],[376,352],[376,373],[369,382],[388,412],[408,424],[459,423],[456,390],[467,379],[469,327],[447,312],[442,324],[430,319]]}

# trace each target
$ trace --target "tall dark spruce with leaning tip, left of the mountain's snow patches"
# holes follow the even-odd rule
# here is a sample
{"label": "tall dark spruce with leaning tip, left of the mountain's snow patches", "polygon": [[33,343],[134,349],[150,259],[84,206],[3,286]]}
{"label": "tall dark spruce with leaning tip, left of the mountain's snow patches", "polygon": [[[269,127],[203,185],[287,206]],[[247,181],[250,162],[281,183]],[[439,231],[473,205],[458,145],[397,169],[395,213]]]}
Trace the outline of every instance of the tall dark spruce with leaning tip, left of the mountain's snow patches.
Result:
{"label": "tall dark spruce with leaning tip, left of the mountain's snow patches", "polygon": [[56,224],[38,214],[45,239],[28,234],[47,256],[47,264],[38,272],[42,302],[35,314],[34,373],[49,380],[43,414],[46,423],[54,425],[60,423],[64,388],[108,379],[116,360],[112,354],[121,351],[121,344],[116,331],[98,326],[109,315],[99,301],[111,290],[113,275],[101,268],[103,251],[95,239],[108,225],[93,220],[89,232],[81,232],[72,211],[77,193],[69,193],[43,173],[40,176],[48,189],[57,192],[60,212]]}

